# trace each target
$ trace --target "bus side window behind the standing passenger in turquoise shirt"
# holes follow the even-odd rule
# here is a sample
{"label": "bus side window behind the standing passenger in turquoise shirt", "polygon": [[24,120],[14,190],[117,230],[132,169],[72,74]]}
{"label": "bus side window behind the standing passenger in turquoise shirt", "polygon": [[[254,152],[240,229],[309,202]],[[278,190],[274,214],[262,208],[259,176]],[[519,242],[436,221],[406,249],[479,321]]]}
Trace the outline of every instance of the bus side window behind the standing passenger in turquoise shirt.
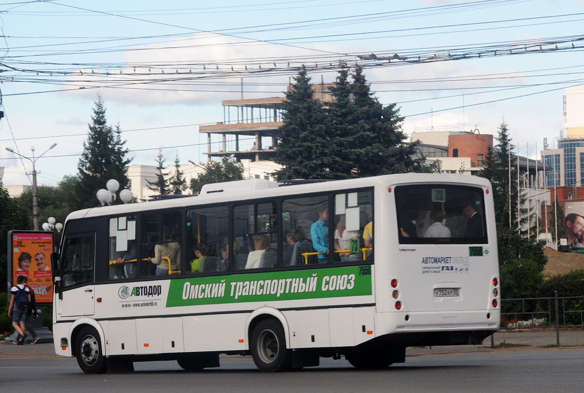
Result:
{"label": "bus side window behind the standing passenger in turquoise shirt", "polygon": [[284,200],[282,203],[284,233],[282,234],[281,254],[284,266],[317,263],[318,256],[312,247],[310,229],[312,224],[318,220],[319,210],[326,209],[326,206],[328,206],[328,198],[325,195]]}

